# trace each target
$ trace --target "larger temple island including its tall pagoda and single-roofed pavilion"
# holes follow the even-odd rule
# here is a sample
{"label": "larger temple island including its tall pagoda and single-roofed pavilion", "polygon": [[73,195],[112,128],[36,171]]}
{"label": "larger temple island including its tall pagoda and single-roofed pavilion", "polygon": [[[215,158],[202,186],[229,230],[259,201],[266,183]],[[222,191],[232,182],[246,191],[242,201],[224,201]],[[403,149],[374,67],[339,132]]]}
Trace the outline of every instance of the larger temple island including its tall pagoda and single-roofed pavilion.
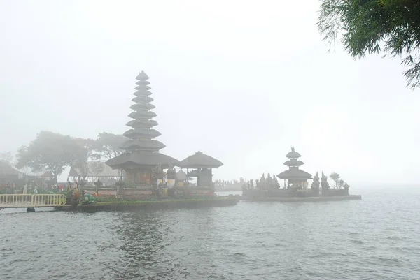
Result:
{"label": "larger temple island including its tall pagoda and single-roofed pavilion", "polygon": [[[73,168],[69,174],[73,186],[68,183],[68,203],[62,209],[97,211],[236,205],[235,198],[214,195],[212,169],[221,167],[221,161],[203,152],[196,152],[183,161],[160,153],[166,146],[155,140],[160,132],[153,128],[158,123],[153,120],[156,114],[151,111],[155,106],[151,104],[149,77],[141,71],[136,79],[134,104],[130,107],[134,111],[129,115],[132,121],[126,124],[130,129],[124,133],[128,140],[121,146],[125,153],[106,161],[106,165],[118,170],[118,182],[104,186],[98,177],[97,182],[89,186],[80,177],[83,170]],[[179,172],[174,166],[181,168]],[[197,177],[197,186],[190,186],[192,177]]]}

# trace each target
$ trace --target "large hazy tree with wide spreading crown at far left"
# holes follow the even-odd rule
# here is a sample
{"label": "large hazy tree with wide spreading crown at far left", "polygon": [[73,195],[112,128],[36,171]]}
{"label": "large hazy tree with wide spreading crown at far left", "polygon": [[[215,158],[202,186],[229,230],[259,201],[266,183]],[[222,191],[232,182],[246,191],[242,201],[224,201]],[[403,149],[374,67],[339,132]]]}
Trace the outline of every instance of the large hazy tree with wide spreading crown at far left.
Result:
{"label": "large hazy tree with wide spreading crown at far left", "polygon": [[54,182],[66,166],[71,165],[83,154],[83,148],[68,135],[41,131],[29,146],[18,150],[18,168],[29,167],[33,172],[48,170]]}

